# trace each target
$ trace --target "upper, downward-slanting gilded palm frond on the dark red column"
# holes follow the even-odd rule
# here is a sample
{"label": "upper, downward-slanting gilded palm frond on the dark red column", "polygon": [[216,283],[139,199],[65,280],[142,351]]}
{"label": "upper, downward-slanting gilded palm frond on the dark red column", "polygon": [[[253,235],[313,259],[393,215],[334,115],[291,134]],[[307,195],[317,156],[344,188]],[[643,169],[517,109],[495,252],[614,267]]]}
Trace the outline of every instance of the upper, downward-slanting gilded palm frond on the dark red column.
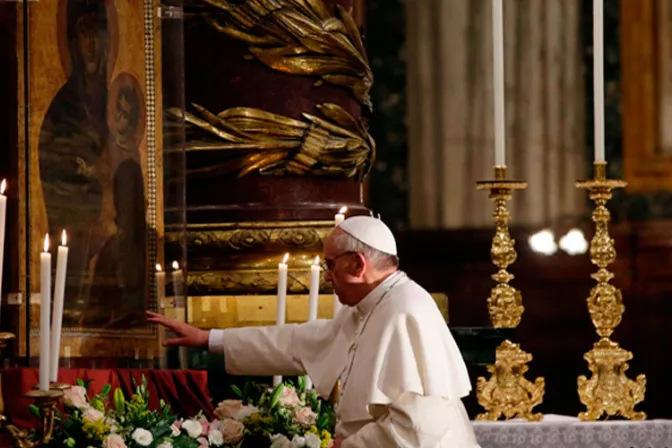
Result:
{"label": "upper, downward-slanting gilded palm frond on the dark red column", "polygon": [[204,0],[224,18],[206,20],[227,36],[248,45],[264,65],[284,73],[319,76],[352,91],[371,108],[373,72],[352,15],[336,5],[330,13],[322,0]]}

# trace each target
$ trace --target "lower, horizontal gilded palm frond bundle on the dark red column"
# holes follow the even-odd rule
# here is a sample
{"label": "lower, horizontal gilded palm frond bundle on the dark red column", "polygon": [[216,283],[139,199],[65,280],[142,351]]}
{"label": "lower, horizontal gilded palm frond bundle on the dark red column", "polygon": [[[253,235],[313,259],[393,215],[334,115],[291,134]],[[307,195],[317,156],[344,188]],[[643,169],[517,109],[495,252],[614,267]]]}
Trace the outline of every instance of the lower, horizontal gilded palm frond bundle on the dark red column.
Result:
{"label": "lower, horizontal gilded palm frond bundle on the dark red column", "polygon": [[[361,180],[374,163],[375,142],[366,125],[336,104],[317,106],[325,118],[302,114],[306,121],[247,107],[217,115],[197,104],[194,107],[200,116],[168,110],[187,122],[187,151],[217,151],[226,157],[216,165],[190,168],[191,177],[260,173]],[[213,136],[222,142],[206,140]]]}

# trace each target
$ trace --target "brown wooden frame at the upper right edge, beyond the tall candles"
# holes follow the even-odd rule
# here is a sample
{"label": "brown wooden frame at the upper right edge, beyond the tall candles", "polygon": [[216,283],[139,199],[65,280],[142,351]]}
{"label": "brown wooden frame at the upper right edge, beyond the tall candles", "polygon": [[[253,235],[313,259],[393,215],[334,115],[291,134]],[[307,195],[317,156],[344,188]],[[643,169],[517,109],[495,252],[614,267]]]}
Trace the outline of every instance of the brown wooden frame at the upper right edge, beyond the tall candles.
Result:
{"label": "brown wooden frame at the upper right edge, beyond the tall candles", "polygon": [[657,1],[620,4],[623,170],[635,193],[672,189],[672,154],[658,150]]}

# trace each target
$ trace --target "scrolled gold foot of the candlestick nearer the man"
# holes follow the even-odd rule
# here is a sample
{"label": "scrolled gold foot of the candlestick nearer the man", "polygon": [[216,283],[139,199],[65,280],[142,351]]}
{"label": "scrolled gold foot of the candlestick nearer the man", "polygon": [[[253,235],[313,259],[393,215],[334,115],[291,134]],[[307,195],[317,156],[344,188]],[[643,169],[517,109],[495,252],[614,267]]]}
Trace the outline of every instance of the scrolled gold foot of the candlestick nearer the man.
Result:
{"label": "scrolled gold foot of the candlestick nearer the man", "polygon": [[541,420],[542,414],[532,413],[532,408],[541,404],[546,382],[537,378],[531,383],[525,378],[530,361],[532,355],[511,341],[504,341],[497,347],[495,364],[487,367],[492,376],[487,381],[483,377],[478,378],[478,403],[487,412],[476,416],[476,420],[496,421],[500,416],[535,422]]}

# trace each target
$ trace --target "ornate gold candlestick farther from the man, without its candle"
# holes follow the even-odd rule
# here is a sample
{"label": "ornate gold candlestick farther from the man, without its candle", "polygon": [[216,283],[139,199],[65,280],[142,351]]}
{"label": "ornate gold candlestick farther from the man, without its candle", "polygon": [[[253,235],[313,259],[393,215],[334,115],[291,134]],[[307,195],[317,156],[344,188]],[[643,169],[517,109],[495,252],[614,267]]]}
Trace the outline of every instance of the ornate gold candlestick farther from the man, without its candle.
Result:
{"label": "ornate gold candlestick farther from the man, without its candle", "polygon": [[640,374],[636,381],[625,376],[633,355],[610,339],[621,323],[625,306],[621,291],[609,283],[614,274],[607,270],[607,266],[616,261],[616,249],[609,236],[610,214],[606,204],[611,199],[612,190],[624,188],[627,183],[607,179],[606,162],[596,162],[594,166],[594,179],[576,183],[578,188],[587,189],[590,199],[595,202],[595,235],[590,242],[590,261],[598,267],[598,271],[591,274],[597,285],[590,291],[587,302],[591,320],[600,336],[583,357],[592,376],[590,380],[585,375],[578,377],[579,398],[587,408],[579,414],[579,419],[592,421],[606,414],[607,417],[620,415],[630,420],[644,420],[646,414],[635,411],[634,407],[644,400],[646,376]]}

